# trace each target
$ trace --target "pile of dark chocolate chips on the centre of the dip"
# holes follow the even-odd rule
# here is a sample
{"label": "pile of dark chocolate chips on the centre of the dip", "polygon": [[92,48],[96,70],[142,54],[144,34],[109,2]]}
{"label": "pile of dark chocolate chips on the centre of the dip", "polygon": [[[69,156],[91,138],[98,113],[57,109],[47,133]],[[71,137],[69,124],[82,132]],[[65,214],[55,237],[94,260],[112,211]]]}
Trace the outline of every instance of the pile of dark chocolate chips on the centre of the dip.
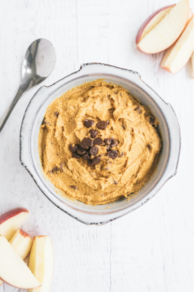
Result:
{"label": "pile of dark chocolate chips on the centre of the dip", "polygon": [[[94,124],[94,120],[85,119],[84,126],[86,128],[90,128]],[[96,124],[98,129],[105,129],[108,126],[108,122],[106,121],[98,121]],[[100,155],[96,156],[98,153],[98,147],[95,145],[102,145],[106,147],[106,153],[109,158],[115,159],[118,156],[118,152],[116,150],[112,150],[112,148],[118,145],[118,141],[114,138],[105,138],[102,140],[101,137],[96,137],[98,134],[98,130],[90,129],[89,131],[90,137],[83,138],[80,145],[78,144],[70,144],[69,149],[72,152],[72,157],[79,159],[82,157],[83,160],[88,161],[88,166],[95,166],[99,164],[102,158]],[[91,156],[95,156],[93,159]]]}

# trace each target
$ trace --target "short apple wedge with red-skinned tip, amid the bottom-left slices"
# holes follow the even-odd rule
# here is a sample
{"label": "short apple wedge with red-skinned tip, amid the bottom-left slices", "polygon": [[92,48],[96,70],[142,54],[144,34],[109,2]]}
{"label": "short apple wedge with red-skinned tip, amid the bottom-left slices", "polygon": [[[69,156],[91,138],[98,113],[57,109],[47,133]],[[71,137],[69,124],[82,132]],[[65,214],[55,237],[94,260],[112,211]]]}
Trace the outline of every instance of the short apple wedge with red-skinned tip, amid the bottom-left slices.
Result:
{"label": "short apple wedge with red-skinned tip, amid the bottom-left slices", "polygon": [[[24,230],[18,228],[18,230],[13,234],[9,243],[13,246],[20,258],[24,260],[30,252],[32,246],[32,237]],[[3,283],[4,282],[0,280],[0,286]]]}

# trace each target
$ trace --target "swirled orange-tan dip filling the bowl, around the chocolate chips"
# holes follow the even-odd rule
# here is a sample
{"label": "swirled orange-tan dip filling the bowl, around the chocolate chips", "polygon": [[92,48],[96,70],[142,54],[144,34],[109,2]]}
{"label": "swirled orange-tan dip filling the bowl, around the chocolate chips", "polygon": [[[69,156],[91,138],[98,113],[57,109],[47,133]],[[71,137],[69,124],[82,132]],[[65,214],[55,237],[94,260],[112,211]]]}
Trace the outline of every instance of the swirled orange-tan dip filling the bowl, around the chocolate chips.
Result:
{"label": "swirled orange-tan dip filling the bowl, around the chocolate chips", "polygon": [[[94,124],[87,128],[85,119]],[[108,121],[108,126],[99,129],[98,121]],[[141,189],[155,169],[161,148],[157,124],[148,108],[121,86],[98,79],[72,88],[49,105],[40,128],[44,174],[62,195],[86,204],[127,197]],[[111,148],[118,152],[115,159],[104,144],[95,145],[101,159],[95,166],[88,166],[83,156],[73,157],[70,144],[80,145],[91,129],[102,140],[118,141]]]}

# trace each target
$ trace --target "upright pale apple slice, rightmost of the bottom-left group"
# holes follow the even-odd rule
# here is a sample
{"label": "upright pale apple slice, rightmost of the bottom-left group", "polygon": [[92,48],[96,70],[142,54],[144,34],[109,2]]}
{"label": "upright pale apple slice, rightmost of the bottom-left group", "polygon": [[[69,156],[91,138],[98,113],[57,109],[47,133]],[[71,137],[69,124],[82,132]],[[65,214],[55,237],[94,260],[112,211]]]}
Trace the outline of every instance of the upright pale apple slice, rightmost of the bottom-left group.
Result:
{"label": "upright pale apple slice, rightmost of the bottom-left group", "polygon": [[42,284],[28,292],[49,292],[53,276],[53,245],[48,236],[35,236],[29,256],[28,267]]}

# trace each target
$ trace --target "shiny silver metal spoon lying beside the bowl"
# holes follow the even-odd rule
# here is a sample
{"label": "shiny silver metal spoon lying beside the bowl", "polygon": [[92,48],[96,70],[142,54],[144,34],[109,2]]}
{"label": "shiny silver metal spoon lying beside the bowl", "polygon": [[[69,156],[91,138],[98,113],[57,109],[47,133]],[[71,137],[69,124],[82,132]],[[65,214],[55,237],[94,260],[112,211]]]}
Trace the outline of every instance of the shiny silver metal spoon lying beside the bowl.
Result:
{"label": "shiny silver metal spoon lying beside the bowl", "polygon": [[50,75],[55,66],[55,60],[55,49],[47,39],[37,39],[29,46],[22,64],[20,87],[11,105],[0,119],[0,131],[22,94],[29,88],[41,83]]}

